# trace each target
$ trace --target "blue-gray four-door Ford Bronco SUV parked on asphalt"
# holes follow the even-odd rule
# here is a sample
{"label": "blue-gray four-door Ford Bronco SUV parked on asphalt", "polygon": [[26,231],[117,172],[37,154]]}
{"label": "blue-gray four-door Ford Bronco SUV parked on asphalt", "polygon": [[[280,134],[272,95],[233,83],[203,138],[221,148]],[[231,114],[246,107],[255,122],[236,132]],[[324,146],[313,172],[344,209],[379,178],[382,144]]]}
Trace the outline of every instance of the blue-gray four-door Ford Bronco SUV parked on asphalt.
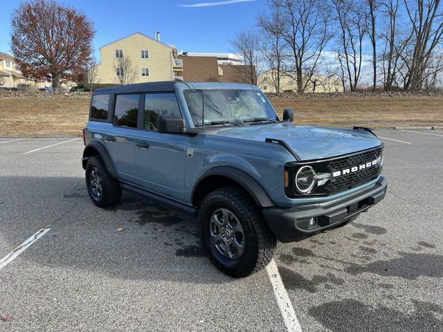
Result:
{"label": "blue-gray four-door Ford Bronco SUV parked on asphalt", "polygon": [[379,203],[383,145],[370,129],[293,125],[257,86],[152,82],[97,89],[82,158],[93,203],[122,190],[199,216],[219,270],[264,268],[300,241]]}

